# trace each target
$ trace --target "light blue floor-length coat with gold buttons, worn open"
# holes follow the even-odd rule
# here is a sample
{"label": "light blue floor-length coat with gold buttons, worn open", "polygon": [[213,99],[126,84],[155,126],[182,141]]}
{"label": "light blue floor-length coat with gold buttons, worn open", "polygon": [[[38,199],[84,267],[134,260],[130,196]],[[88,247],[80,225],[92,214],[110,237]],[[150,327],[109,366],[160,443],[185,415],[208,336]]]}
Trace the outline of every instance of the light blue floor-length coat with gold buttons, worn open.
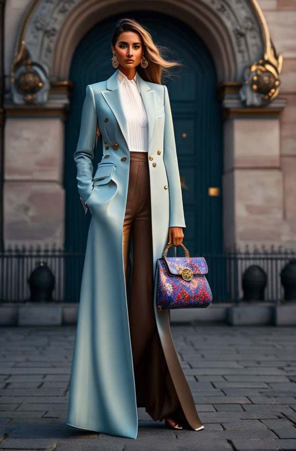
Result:
{"label": "light blue floor-length coat with gold buttons, worn open", "polygon": [[[81,282],[67,424],[136,438],[138,416],[122,240],[129,184],[128,126],[117,74],[118,69],[108,80],[86,87],[74,153],[80,199],[83,204],[87,202],[92,218]],[[139,73],[137,85],[148,117],[155,272],[169,226],[185,227],[185,220],[167,88],[143,80]],[[103,158],[92,176],[97,124],[103,139]],[[151,156],[153,159],[149,159]],[[200,428],[202,423],[172,342],[169,311],[158,312],[155,301],[154,311],[183,411],[192,428]]]}

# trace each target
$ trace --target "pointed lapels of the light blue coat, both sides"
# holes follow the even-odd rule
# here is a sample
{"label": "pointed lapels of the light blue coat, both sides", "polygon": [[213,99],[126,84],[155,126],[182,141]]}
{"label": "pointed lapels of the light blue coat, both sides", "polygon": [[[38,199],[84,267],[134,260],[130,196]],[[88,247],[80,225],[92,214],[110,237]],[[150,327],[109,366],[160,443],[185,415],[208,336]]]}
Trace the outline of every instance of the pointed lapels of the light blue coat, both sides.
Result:
{"label": "pointed lapels of the light blue coat, both sides", "polygon": [[[101,91],[102,95],[104,96],[106,102],[110,106],[112,112],[114,113],[114,116],[120,126],[120,129],[122,131],[122,134],[127,142],[128,145],[128,123],[124,114],[123,105],[121,103],[119,91],[118,91],[118,75],[119,69],[116,69],[115,72],[111,75],[111,77],[107,80],[107,90]],[[142,77],[140,77],[139,73],[137,73],[137,86],[139,89],[139,92],[141,94],[147,119],[148,119],[148,152],[151,144],[151,140],[154,133],[154,127],[155,127],[155,91],[151,89],[146,83],[145,80],[143,80]]]}

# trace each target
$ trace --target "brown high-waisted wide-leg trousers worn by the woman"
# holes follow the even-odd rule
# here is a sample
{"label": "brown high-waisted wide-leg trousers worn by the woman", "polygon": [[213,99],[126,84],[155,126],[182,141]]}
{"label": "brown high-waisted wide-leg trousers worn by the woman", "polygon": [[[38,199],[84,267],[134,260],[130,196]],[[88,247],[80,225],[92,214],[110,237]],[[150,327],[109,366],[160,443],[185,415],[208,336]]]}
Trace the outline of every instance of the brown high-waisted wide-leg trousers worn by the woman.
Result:
{"label": "brown high-waisted wide-leg trousers worn by the woman", "polygon": [[[128,274],[132,231],[132,274]],[[130,152],[129,188],[123,225],[126,287],[131,276],[129,330],[137,407],[154,421],[176,417],[181,405],[159,338],[153,308],[153,254],[150,180],[147,152]],[[176,414],[176,415],[174,415]]]}

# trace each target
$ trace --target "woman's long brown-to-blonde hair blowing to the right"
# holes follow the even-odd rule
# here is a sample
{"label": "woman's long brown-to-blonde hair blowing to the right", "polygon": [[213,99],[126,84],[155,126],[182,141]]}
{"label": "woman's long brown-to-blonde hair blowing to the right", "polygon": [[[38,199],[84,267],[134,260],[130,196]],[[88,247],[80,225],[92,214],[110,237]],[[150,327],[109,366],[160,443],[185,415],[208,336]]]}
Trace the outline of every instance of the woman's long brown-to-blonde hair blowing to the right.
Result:
{"label": "woman's long brown-to-blonde hair blowing to the right", "polygon": [[136,71],[139,73],[140,77],[143,78],[143,80],[161,85],[162,74],[165,73],[169,76],[168,68],[184,66],[182,63],[178,63],[177,61],[166,61],[161,56],[160,52],[168,49],[164,46],[156,46],[150,33],[144,28],[143,25],[134,19],[122,18],[118,20],[111,40],[114,47],[119,35],[126,31],[137,33],[141,38],[144,57],[148,61],[148,66],[144,69],[139,64],[136,67]]}

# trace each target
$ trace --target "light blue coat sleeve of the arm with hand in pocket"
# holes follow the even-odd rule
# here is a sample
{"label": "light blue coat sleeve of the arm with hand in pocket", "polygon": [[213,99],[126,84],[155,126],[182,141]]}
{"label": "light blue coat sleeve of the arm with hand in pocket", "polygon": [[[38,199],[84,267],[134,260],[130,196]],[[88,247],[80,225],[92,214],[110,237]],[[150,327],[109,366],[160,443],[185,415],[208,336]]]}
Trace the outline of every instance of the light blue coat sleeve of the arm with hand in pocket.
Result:
{"label": "light blue coat sleeve of the arm with hand in pocket", "polygon": [[77,187],[79,197],[85,213],[88,210],[85,205],[92,193],[92,159],[94,156],[94,145],[97,134],[97,113],[94,102],[92,87],[87,85],[84,99],[79,139],[74,152],[74,160],[77,166]]}

